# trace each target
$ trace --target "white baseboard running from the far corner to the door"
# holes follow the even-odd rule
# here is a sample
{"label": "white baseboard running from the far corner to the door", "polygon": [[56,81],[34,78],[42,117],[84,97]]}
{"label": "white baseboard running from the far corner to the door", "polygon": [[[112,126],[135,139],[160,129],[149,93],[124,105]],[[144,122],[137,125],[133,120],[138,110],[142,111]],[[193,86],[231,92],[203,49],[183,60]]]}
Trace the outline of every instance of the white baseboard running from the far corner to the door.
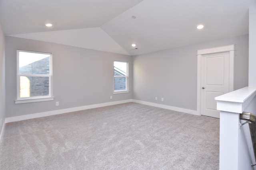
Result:
{"label": "white baseboard running from the far corner to the door", "polygon": [[132,102],[138,103],[138,104],[144,104],[144,105],[148,105],[148,106],[160,107],[160,108],[168,109],[168,110],[179,111],[179,112],[183,112],[183,113],[189,113],[189,114],[193,114],[193,115],[200,115],[200,113],[198,113],[198,111],[196,111],[196,110],[184,109],[184,108],[180,108],[180,107],[156,104],[156,103],[151,103],[151,102],[144,102],[141,100],[133,100],[132,99]]}

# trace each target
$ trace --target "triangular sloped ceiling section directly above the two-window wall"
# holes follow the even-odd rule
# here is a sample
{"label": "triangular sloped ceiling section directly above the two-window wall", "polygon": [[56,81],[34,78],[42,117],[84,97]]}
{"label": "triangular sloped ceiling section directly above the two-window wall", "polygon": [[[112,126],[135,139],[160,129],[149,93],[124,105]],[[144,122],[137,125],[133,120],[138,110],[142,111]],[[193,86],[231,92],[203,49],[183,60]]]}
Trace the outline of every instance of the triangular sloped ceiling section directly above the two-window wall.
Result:
{"label": "triangular sloped ceiling section directly above the two-window wall", "polygon": [[16,34],[11,36],[130,55],[100,27]]}

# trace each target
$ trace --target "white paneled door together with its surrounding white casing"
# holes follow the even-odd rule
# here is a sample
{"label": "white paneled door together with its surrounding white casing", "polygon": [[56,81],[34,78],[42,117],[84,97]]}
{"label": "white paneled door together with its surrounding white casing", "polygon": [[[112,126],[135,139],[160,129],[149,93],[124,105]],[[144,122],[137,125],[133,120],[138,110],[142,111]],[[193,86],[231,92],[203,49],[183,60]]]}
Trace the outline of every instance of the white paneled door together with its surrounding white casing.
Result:
{"label": "white paneled door together with its surrounding white casing", "polygon": [[[223,67],[220,67],[221,64]],[[228,65],[225,66],[227,70],[225,70],[224,64]],[[234,45],[198,50],[197,65],[198,115],[205,115],[207,110],[208,116],[219,117],[214,97],[234,89]],[[206,76],[209,77],[204,79]],[[228,86],[224,87],[224,84],[228,84]]]}

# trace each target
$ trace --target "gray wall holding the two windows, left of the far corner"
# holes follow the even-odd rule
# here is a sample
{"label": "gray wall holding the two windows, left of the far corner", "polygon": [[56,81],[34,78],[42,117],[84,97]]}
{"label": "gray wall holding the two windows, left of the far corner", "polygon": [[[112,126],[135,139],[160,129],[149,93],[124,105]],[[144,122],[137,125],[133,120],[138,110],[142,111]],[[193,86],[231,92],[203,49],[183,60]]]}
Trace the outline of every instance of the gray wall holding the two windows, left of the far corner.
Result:
{"label": "gray wall holding the two windows, left of the far corner", "polygon": [[[5,41],[6,117],[132,99],[132,92],[113,95],[114,60],[129,63],[132,90],[131,56],[10,36]],[[54,101],[14,104],[16,49],[52,53]],[[55,106],[55,102],[60,105]]]}

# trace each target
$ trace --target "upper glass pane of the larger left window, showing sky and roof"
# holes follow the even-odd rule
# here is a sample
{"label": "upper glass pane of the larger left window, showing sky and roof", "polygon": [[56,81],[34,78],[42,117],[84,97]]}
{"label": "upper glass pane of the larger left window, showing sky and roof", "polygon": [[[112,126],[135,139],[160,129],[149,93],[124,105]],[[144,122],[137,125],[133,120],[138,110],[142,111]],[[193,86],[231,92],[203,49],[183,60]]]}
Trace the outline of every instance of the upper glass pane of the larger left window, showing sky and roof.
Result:
{"label": "upper glass pane of the larger left window, showing sky and roof", "polygon": [[49,74],[50,55],[19,52],[20,74]]}

